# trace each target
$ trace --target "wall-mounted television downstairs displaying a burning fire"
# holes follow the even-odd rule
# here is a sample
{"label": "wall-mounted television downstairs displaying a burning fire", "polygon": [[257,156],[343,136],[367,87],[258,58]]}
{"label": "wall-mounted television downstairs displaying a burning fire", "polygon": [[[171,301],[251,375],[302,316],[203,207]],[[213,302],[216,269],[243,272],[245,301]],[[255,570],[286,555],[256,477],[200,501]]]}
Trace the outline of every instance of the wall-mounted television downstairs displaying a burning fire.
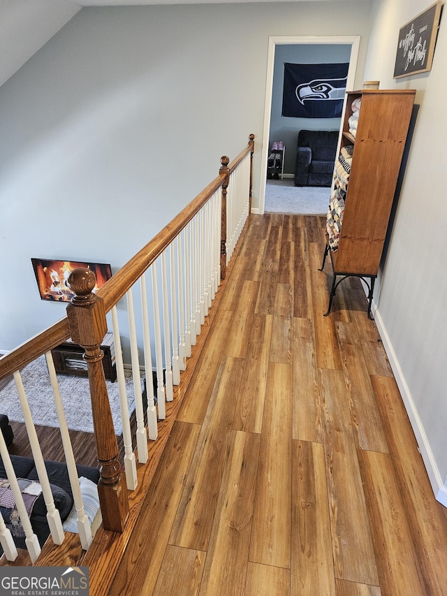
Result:
{"label": "wall-mounted television downstairs displaying a burning fire", "polygon": [[74,269],[83,267],[94,272],[96,286],[93,291],[101,288],[112,277],[112,270],[108,263],[36,258],[31,258],[31,263],[41,300],[50,300],[51,302],[68,303],[71,301],[74,293],[68,287],[67,279]]}

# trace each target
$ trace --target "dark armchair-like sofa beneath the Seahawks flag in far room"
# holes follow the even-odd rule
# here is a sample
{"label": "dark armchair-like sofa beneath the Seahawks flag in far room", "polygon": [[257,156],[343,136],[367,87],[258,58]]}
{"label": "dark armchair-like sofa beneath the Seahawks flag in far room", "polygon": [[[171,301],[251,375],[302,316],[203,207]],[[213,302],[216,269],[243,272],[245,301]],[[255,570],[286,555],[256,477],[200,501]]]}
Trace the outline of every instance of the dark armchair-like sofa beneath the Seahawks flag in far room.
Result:
{"label": "dark armchair-like sofa beneath the Seahawks flag in far room", "polygon": [[338,131],[298,133],[295,187],[330,187],[337,152]]}

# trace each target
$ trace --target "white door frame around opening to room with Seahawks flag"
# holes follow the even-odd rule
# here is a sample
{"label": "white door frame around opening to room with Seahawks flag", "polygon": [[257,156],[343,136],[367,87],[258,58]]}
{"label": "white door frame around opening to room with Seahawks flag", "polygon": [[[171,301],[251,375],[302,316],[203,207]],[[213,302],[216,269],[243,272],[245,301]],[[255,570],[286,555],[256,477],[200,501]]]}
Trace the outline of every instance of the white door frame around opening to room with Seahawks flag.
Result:
{"label": "white door frame around opening to room with Seahawks flag", "polygon": [[[270,113],[272,111],[272,89],[273,89],[273,69],[274,69],[274,51],[277,45],[298,45],[298,44],[344,44],[351,45],[351,57],[349,58],[348,78],[346,80],[346,90],[352,91],[356,79],[358,50],[360,48],[360,36],[281,36],[268,38],[268,59],[267,59],[267,80],[265,85],[265,111],[264,111],[264,129],[263,129],[263,148],[261,152],[261,184],[259,185],[259,208],[253,209],[254,213],[264,212],[265,203],[265,181],[267,179],[267,159],[268,143],[270,135]],[[346,101],[346,97],[345,97]],[[344,105],[342,122],[344,115]]]}

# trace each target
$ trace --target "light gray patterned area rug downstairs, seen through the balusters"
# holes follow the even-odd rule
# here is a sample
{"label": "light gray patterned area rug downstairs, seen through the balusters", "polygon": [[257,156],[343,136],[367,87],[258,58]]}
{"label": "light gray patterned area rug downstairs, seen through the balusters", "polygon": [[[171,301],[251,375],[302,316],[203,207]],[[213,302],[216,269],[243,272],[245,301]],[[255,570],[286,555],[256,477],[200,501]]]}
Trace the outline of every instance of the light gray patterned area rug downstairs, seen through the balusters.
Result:
{"label": "light gray patterned area rug downstairs, seen through the balusters", "polygon": [[[45,356],[37,358],[20,372],[27,394],[29,409],[34,424],[41,426],[59,427],[50,377],[48,375]],[[132,371],[124,369],[126,378],[126,393],[129,403],[129,415],[135,409],[133,393]],[[93,433],[93,418],[91,416],[91,403],[89,393],[89,379],[75,377],[74,375],[57,375],[59,391],[66,416],[67,426],[71,430],[83,430]],[[119,412],[118,383],[105,381],[112,411],[115,434],[122,435],[122,421]],[[23,422],[22,409],[14,379],[0,391],[0,413],[7,414],[10,420]]]}

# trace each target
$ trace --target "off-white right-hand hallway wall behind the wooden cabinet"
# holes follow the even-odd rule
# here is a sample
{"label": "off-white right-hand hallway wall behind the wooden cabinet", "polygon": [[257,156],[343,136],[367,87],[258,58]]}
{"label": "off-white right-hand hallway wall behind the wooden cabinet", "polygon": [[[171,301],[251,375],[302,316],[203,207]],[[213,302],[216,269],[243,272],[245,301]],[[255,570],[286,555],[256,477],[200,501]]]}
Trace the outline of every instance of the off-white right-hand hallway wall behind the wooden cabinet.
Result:
{"label": "off-white right-hand hallway wall behind the wooden cabinet", "polygon": [[374,0],[365,79],[380,80],[381,88],[417,89],[420,109],[376,321],[434,492],[447,505],[446,15],[432,71],[393,79],[398,31],[427,6],[425,0]]}

